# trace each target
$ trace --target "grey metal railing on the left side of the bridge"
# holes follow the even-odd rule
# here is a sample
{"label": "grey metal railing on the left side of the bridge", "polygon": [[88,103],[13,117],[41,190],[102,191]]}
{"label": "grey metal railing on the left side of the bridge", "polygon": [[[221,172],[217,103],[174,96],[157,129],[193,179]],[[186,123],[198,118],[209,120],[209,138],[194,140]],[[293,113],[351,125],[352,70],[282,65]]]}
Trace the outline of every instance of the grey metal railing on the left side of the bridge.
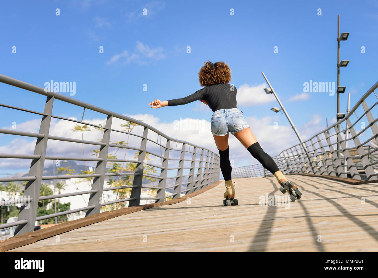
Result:
{"label": "grey metal railing on the left side of the bridge", "polygon": [[[15,154],[15,153],[0,153],[0,159],[31,159],[31,166],[29,168],[29,173],[27,176],[18,178],[0,178],[0,182],[15,182],[15,181],[27,181],[25,186],[24,195],[27,198],[7,200],[6,202],[22,204],[19,211],[19,216],[17,221],[2,224],[0,229],[15,227],[15,235],[19,235],[26,232],[31,232],[34,230],[34,224],[36,221],[54,218],[57,216],[68,215],[70,213],[86,211],[85,216],[90,216],[101,212],[101,207],[105,205],[115,204],[119,202],[129,201],[129,207],[140,204],[141,199],[155,200],[155,202],[163,202],[166,198],[178,198],[181,193],[188,194],[203,187],[213,184],[219,180],[220,167],[219,167],[219,156],[218,154],[208,150],[206,148],[191,144],[189,142],[173,139],[156,128],[147,125],[139,120],[132,119],[130,117],[105,110],[103,108],[96,107],[89,103],[79,101],[77,99],[65,96],[64,94],[53,93],[51,91],[45,91],[45,89],[35,86],[26,82],[22,82],[17,79],[13,79],[8,76],[0,74],[0,82],[19,87],[30,92],[41,94],[46,96],[46,103],[43,112],[33,111],[25,108],[14,107],[11,105],[0,103],[1,107],[9,108],[12,110],[20,110],[34,115],[39,115],[42,117],[40,122],[40,128],[38,133],[32,133],[27,131],[11,130],[11,129],[0,129],[2,134],[12,134],[17,136],[28,136],[37,139],[34,153],[33,154]],[[84,108],[82,120],[74,120],[67,117],[60,117],[53,115],[53,103],[54,101],[62,101],[70,105],[75,105],[76,107]],[[94,125],[90,123],[83,122],[85,111],[95,111],[100,113],[104,118],[106,118],[106,123],[104,126]],[[102,139],[100,142],[87,141],[83,139],[74,139],[69,137],[59,137],[49,134],[51,119],[55,118],[58,120],[65,120],[73,122],[79,125],[89,125],[91,127],[98,128],[102,130]],[[114,119],[120,119],[133,124],[140,129],[141,134],[136,134],[132,132],[127,132],[125,130],[118,130],[112,126]],[[129,125],[130,126],[130,125]],[[110,142],[110,134],[122,134],[123,136],[135,136],[140,139],[140,145],[130,146],[129,144],[112,144]],[[156,141],[152,139],[152,136],[156,135]],[[160,140],[159,140],[160,139]],[[163,143],[162,143],[163,140]],[[72,142],[80,143],[83,145],[98,146],[99,152],[96,158],[86,158],[86,157],[66,157],[66,156],[46,156],[47,144],[50,141],[62,141],[62,142]],[[159,141],[159,142],[158,142]],[[147,148],[147,142],[154,144],[156,148],[160,148],[160,152],[157,154],[156,150],[153,151],[153,147]],[[176,143],[176,144],[174,144]],[[115,159],[109,156],[112,152],[110,149],[115,150],[116,148],[130,149],[138,152],[137,159]],[[158,160],[158,164],[152,164],[147,160],[147,155],[152,155]],[[187,158],[187,156],[190,156]],[[43,167],[45,160],[71,160],[71,161],[95,161],[97,165],[92,171],[93,173],[87,173],[82,175],[55,175],[46,176],[43,175]],[[135,171],[133,172],[109,172],[107,171],[108,162],[127,162],[134,163]],[[161,162],[161,163],[160,163]],[[169,162],[178,163],[176,167],[169,167]],[[184,164],[190,163],[189,167],[184,167]],[[153,167],[160,168],[160,175],[150,175],[145,173],[145,168]],[[189,175],[183,175],[183,170],[189,169]],[[177,170],[177,172],[175,171]],[[168,171],[175,171],[174,176],[168,176]],[[116,186],[104,188],[104,182],[106,177],[112,176],[133,176],[132,185]],[[41,183],[44,180],[55,180],[55,179],[73,179],[73,178],[86,178],[93,179],[91,181],[91,190],[72,192],[64,194],[55,194],[50,196],[40,196]],[[149,186],[143,184],[144,178],[157,179],[158,186]],[[184,178],[184,180],[183,180]],[[167,180],[174,179],[173,185],[167,186]],[[187,180],[187,181],[186,181]],[[103,192],[110,190],[119,190],[124,188],[131,188],[130,198],[116,199],[109,202],[102,202]],[[142,188],[149,188],[156,190],[155,197],[141,197]],[[166,196],[166,190],[171,189],[173,193]],[[64,198],[68,196],[77,195],[89,195],[88,205],[86,207],[76,208],[73,210],[53,213],[49,215],[36,216],[38,202],[43,200],[51,200],[57,198]],[[2,200],[0,200],[2,201]],[[25,201],[28,202],[25,205]],[[5,201],[1,202],[0,205],[4,205]]]}

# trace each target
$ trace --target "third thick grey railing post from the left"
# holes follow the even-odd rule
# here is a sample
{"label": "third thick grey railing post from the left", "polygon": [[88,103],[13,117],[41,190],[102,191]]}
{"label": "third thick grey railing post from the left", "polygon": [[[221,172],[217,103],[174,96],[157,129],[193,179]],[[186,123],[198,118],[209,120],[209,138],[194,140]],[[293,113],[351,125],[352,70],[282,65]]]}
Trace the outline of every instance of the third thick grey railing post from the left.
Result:
{"label": "third thick grey railing post from the left", "polygon": [[136,164],[135,174],[133,180],[133,187],[131,190],[130,198],[135,198],[134,200],[129,201],[129,207],[139,205],[141,200],[141,192],[142,192],[142,182],[143,182],[143,171],[144,171],[144,160],[146,158],[146,146],[147,146],[147,134],[148,127],[144,127],[143,130],[143,138],[141,140],[141,151],[139,151],[138,155],[138,164]]}

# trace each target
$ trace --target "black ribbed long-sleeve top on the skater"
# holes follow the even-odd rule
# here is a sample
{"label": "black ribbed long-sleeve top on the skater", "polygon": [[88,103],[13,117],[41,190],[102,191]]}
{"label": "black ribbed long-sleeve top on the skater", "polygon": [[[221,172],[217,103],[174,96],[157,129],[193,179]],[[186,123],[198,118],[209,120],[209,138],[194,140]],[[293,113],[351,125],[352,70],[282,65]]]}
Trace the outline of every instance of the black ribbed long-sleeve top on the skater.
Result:
{"label": "black ribbed long-sleeve top on the skater", "polygon": [[219,109],[237,108],[236,87],[224,83],[206,86],[182,99],[168,100],[168,106],[187,104],[199,99],[206,101],[213,112]]}

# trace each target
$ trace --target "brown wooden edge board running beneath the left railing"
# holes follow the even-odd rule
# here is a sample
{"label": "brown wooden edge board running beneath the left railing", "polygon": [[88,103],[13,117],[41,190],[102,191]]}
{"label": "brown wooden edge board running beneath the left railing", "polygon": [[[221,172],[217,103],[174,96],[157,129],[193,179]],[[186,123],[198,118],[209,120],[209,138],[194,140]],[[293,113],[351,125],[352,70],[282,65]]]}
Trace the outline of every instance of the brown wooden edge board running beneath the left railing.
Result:
{"label": "brown wooden edge board running beneath the left railing", "polygon": [[57,224],[51,227],[48,227],[46,229],[37,230],[34,232],[24,233],[22,235],[13,236],[8,239],[4,239],[0,241],[0,252],[5,252],[11,249],[15,249],[17,247],[25,246],[34,242],[37,242],[41,239],[50,238],[51,236],[60,235],[61,233],[65,233],[74,229],[78,229],[81,227],[85,227],[87,225],[91,225],[94,223],[98,223],[110,218],[115,218],[117,216],[126,215],[129,213],[137,212],[139,210],[146,210],[148,208],[152,207],[160,207],[162,205],[172,205],[176,204],[182,201],[185,201],[186,198],[192,198],[194,196],[197,196],[205,191],[208,191],[209,189],[212,189],[219,185],[222,181],[217,181],[212,185],[209,185],[208,187],[202,188],[198,191],[189,193],[187,195],[184,195],[182,197],[164,201],[164,202],[158,202],[153,204],[146,204],[146,205],[137,205],[134,207],[127,207],[127,208],[120,208],[118,210],[110,210],[108,212],[101,212],[97,213],[95,215],[87,216],[84,218],[72,220],[69,222]]}

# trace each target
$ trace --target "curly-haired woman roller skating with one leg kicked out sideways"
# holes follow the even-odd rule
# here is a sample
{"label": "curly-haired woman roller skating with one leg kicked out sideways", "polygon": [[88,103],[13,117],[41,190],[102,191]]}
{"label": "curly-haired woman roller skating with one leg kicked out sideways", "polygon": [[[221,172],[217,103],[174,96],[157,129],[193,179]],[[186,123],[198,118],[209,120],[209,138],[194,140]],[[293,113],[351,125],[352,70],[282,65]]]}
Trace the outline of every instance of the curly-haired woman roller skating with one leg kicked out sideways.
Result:
{"label": "curly-haired woman roller skating with one leg kicked out sideways", "polygon": [[[190,96],[182,99],[171,99],[161,101],[155,99],[148,105],[151,108],[160,108],[164,106],[173,106],[187,104],[195,100],[200,100],[209,105],[214,112],[211,116],[211,133],[214,136],[215,144],[219,150],[220,169],[226,182],[226,192],[223,196],[224,205],[235,204],[234,184],[231,181],[231,164],[229,160],[228,133],[231,132],[243,146],[256,158],[260,163],[270,171],[281,185],[282,193],[290,193],[290,199],[295,201],[301,198],[302,192],[293,182],[288,181],[277,167],[273,158],[271,158],[257,142],[256,137],[246,120],[243,111],[236,107],[236,88],[228,84],[231,81],[231,70],[225,62],[208,62],[201,67],[199,75],[200,85],[204,88],[196,91]],[[227,201],[230,200],[230,201]]]}

